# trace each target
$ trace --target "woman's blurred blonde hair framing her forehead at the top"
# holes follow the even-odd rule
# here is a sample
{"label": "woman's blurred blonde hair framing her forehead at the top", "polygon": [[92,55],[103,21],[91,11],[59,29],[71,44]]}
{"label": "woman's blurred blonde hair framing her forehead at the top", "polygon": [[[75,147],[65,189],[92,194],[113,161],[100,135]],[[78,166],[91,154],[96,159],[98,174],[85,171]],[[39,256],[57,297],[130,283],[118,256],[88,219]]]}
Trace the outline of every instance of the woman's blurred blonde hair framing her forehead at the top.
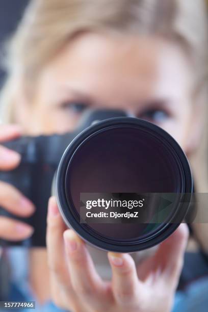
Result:
{"label": "woman's blurred blonde hair framing her forehead at the top", "polygon": [[13,121],[22,81],[25,88],[34,89],[42,66],[76,33],[109,31],[170,38],[189,50],[200,81],[207,73],[207,29],[203,0],[33,0],[8,45],[1,116]]}

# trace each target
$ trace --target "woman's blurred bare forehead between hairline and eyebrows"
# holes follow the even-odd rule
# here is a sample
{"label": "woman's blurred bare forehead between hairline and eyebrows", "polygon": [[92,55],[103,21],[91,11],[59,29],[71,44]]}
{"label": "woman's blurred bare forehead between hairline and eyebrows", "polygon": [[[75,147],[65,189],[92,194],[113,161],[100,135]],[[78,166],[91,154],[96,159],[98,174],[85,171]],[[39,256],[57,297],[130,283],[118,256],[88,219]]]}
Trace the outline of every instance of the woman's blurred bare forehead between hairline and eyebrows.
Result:
{"label": "woman's blurred bare forehead between hairline and eyebrows", "polygon": [[138,94],[164,92],[162,85],[180,92],[188,83],[187,71],[183,53],[162,39],[89,33],[64,46],[43,69],[41,82],[85,97],[125,94],[134,101]]}

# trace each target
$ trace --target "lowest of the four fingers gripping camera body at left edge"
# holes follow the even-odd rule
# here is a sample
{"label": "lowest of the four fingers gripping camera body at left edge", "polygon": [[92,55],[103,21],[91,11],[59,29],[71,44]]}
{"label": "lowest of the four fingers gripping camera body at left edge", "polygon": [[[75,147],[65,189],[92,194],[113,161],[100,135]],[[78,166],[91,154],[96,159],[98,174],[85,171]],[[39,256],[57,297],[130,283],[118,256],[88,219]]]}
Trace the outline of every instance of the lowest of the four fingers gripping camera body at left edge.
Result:
{"label": "lowest of the four fingers gripping camera body at left edge", "polygon": [[21,241],[33,234],[32,226],[9,219],[0,217],[0,237],[10,241]]}

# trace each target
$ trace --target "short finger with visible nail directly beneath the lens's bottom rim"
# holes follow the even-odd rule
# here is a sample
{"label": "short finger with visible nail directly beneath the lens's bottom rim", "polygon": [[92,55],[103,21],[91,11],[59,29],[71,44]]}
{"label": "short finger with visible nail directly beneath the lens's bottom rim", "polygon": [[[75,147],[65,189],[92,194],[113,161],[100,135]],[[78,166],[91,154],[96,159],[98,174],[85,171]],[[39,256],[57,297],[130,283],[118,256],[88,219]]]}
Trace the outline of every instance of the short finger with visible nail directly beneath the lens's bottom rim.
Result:
{"label": "short finger with visible nail directly beneath the lens's bottom rim", "polygon": [[131,255],[108,253],[113,274],[113,292],[121,305],[134,305],[142,296],[142,282],[138,279]]}

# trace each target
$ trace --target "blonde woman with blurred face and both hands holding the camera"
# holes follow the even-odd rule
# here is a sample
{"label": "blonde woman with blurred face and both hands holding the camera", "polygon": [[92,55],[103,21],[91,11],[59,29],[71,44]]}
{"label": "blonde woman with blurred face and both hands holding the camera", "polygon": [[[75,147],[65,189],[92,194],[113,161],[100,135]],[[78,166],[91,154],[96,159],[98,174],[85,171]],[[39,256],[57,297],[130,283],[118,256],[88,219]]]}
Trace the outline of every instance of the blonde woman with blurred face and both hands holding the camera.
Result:
{"label": "blonde woman with blurred face and both hands holding the camera", "polygon": [[[11,41],[1,99],[5,122],[19,126],[2,126],[1,140],[72,131],[88,107],[127,109],[163,127],[191,157],[206,100],[204,11],[202,0],[31,2]],[[19,154],[1,147],[2,170],[19,162]],[[0,204],[19,216],[38,209],[3,182]],[[184,224],[137,268],[130,255],[109,253],[113,277],[104,281],[83,241],[66,230],[54,198],[47,221],[48,265],[45,250],[28,252],[28,287],[37,302],[51,299],[72,311],[171,310],[187,243]],[[32,232],[0,219],[2,238],[22,240]]]}

